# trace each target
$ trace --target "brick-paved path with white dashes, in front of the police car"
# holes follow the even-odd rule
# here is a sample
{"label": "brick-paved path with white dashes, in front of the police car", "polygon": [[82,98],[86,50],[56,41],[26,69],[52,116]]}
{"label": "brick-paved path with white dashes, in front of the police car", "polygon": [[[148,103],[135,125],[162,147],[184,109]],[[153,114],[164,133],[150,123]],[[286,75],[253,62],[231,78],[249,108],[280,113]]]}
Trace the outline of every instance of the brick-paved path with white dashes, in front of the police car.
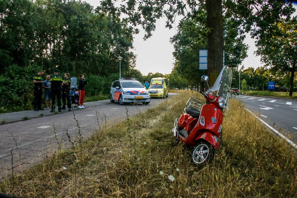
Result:
{"label": "brick-paved path with white dashes, in front of the police car", "polygon": [[[174,95],[177,94],[171,93],[169,97],[174,97]],[[133,106],[127,104],[128,114],[133,116],[161,102],[165,102],[165,100],[151,99],[149,105],[138,103],[138,105]],[[107,125],[117,124],[127,118],[125,105],[121,106],[116,102],[110,103],[109,100],[102,101],[100,106],[74,111],[84,140],[99,128],[96,112],[103,118],[103,120],[99,118],[99,123],[102,126],[105,125],[105,116]],[[56,151],[58,144],[54,136],[54,127],[62,148],[69,147],[66,130],[68,130],[72,138],[78,136],[77,123],[73,117],[73,112],[65,112],[1,125],[0,178],[6,174],[10,175],[12,167],[14,167],[15,171],[24,170],[46,159],[47,156]],[[101,123],[102,121],[103,123]]]}

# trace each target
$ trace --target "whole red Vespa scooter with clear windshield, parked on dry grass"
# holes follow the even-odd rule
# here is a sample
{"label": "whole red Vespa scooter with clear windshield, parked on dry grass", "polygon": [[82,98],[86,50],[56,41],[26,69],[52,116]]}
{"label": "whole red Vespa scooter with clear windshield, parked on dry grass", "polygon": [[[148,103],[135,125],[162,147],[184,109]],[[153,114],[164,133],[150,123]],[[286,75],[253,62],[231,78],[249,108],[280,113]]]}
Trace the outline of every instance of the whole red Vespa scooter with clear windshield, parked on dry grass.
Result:
{"label": "whole red Vespa scooter with clear windshield, parked on dry grass", "polygon": [[[208,76],[202,76],[201,82],[207,84]],[[172,132],[176,141],[194,146],[192,162],[196,165],[210,162],[214,148],[219,148],[218,137],[222,133],[223,114],[228,111],[231,82],[232,71],[224,66],[214,85],[208,86],[206,93],[199,91],[206,98],[206,104],[202,106],[200,100],[189,98],[187,108],[174,122]]]}

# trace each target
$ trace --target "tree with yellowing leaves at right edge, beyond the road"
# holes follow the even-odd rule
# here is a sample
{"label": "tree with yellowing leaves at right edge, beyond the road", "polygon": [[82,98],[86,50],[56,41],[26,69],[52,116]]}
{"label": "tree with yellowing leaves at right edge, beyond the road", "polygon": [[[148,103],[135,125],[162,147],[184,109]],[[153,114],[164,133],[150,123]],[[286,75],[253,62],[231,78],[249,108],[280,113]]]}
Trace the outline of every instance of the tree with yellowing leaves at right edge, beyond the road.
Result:
{"label": "tree with yellowing leaves at right edge, beyond the road", "polygon": [[272,71],[290,73],[290,93],[293,94],[294,75],[297,71],[297,17],[283,19],[262,33],[257,42],[257,55]]}

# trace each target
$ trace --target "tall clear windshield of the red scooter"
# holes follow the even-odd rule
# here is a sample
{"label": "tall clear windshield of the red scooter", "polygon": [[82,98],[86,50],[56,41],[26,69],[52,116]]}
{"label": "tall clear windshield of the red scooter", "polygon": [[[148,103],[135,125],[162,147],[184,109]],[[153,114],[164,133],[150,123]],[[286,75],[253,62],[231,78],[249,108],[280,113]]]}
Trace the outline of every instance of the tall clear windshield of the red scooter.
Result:
{"label": "tall clear windshield of the red scooter", "polygon": [[227,104],[227,108],[226,107],[224,108],[224,110],[226,109],[225,111],[228,111],[228,106],[229,106],[228,90],[230,90],[231,88],[231,83],[232,83],[232,70],[230,69],[230,67],[224,66],[214,85],[206,91],[206,93],[209,93],[214,97],[219,95],[219,97],[222,97],[225,99]]}

